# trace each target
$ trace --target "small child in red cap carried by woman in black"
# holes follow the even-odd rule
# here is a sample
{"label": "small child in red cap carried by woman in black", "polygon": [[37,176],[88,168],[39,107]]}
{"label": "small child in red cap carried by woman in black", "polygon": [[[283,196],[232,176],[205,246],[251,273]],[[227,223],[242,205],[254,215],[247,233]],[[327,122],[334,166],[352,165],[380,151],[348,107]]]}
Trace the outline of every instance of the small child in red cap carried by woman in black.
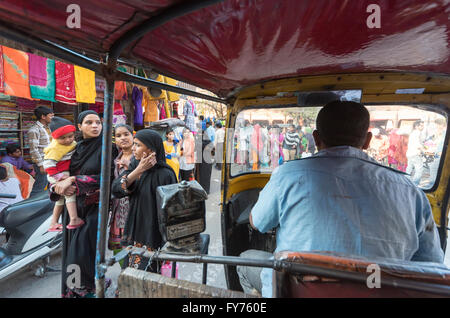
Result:
{"label": "small child in red cap carried by woman in black", "polygon": [[[47,173],[48,182],[54,185],[56,182],[70,176],[70,159],[77,145],[74,141],[76,129],[69,120],[61,117],[53,117],[49,128],[53,140],[44,149],[44,169]],[[70,217],[70,223],[67,225],[67,229],[73,230],[82,226],[84,221],[77,214],[76,195],[65,196],[65,199],[67,212]],[[62,225],[58,223],[58,220],[63,211],[63,207],[64,198],[61,197],[53,208],[53,217],[48,229],[49,232],[60,232],[62,230]]]}

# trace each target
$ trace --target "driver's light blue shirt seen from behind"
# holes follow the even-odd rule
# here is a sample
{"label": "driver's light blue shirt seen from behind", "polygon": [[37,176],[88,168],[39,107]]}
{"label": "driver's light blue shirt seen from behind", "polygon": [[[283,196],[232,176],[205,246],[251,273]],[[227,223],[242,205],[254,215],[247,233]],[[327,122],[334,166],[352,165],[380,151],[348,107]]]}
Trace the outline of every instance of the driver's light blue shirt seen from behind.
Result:
{"label": "driver's light blue shirt seen from behind", "polygon": [[[442,263],[425,193],[403,173],[350,146],[277,168],[252,209],[260,232],[277,228],[278,251],[333,251]],[[272,296],[272,270],[261,272]]]}

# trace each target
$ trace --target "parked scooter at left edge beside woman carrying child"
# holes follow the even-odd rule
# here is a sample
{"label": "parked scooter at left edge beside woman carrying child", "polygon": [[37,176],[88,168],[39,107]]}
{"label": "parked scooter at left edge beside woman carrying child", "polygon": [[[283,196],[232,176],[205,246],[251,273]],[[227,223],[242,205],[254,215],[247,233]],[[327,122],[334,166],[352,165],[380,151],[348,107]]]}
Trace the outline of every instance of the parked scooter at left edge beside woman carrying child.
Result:
{"label": "parked scooter at left edge beside woman carrying child", "polygon": [[[11,198],[11,195],[0,193],[0,197]],[[48,232],[53,206],[48,193],[43,192],[0,212],[0,226],[9,236],[7,243],[0,247],[0,281],[32,265],[38,266],[37,276],[55,271],[48,266],[49,256],[61,247],[62,233]]]}

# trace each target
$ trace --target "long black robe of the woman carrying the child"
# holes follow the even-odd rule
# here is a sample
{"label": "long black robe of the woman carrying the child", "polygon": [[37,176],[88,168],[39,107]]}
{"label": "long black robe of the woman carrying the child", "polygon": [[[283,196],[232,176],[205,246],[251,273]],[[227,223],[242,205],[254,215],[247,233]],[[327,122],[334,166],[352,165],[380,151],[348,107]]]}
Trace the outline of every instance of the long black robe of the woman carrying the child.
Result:
{"label": "long black robe of the woman carrying the child", "polygon": [[[85,224],[75,230],[65,230],[67,246],[63,246],[63,291],[65,297],[83,297],[95,292],[95,257],[97,249],[97,225],[99,213],[99,190],[102,157],[102,136],[82,140],[77,144],[71,159],[70,174],[76,176],[77,213]],[[112,158],[117,156],[113,145]],[[114,162],[111,162],[111,177],[114,177]],[[67,266],[78,265],[81,274],[79,287],[67,286],[67,278],[73,274]],[[72,267],[71,267],[72,268]],[[69,268],[69,269],[71,269]],[[69,279],[70,281],[70,279]]]}

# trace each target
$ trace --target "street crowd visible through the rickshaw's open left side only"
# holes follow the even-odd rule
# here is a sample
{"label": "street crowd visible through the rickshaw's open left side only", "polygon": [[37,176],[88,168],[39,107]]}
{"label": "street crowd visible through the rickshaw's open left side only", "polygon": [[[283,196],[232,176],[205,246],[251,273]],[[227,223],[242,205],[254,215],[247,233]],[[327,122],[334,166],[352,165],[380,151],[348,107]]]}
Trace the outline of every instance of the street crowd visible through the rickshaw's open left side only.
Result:
{"label": "street crowd visible through the rickshaw's open left side only", "polygon": [[[18,145],[8,145],[7,156],[3,157],[0,165],[0,187],[5,193],[17,195],[14,200],[1,201],[1,207],[48,190],[50,199],[55,201],[48,230],[54,232],[63,230],[60,216],[63,207],[67,208],[69,219],[66,228],[70,239],[63,267],[78,265],[81,285],[66,286],[64,296],[89,297],[95,293],[102,120],[93,110],[83,111],[77,118],[78,127],[75,127],[45,106],[39,106],[34,113],[38,120],[28,132],[32,163],[23,159]],[[114,253],[129,245],[149,250],[162,247],[156,206],[158,186],[197,179],[209,193],[211,167],[215,160],[196,162],[196,144],[200,143],[198,148],[201,151],[211,144],[221,147],[225,132],[218,120],[208,118],[198,121],[197,125],[195,132],[187,127],[168,130],[165,140],[151,129],[135,132],[126,124],[114,127],[113,199],[108,239],[108,248]],[[212,125],[215,128],[211,128]],[[198,134],[197,131],[203,133]],[[16,175],[7,174],[6,167],[14,167],[14,171],[22,171],[26,175],[29,173],[30,178],[32,175],[32,191],[29,189],[22,195],[21,183]],[[156,272],[160,264],[148,265],[141,257],[130,256],[123,266]]]}

